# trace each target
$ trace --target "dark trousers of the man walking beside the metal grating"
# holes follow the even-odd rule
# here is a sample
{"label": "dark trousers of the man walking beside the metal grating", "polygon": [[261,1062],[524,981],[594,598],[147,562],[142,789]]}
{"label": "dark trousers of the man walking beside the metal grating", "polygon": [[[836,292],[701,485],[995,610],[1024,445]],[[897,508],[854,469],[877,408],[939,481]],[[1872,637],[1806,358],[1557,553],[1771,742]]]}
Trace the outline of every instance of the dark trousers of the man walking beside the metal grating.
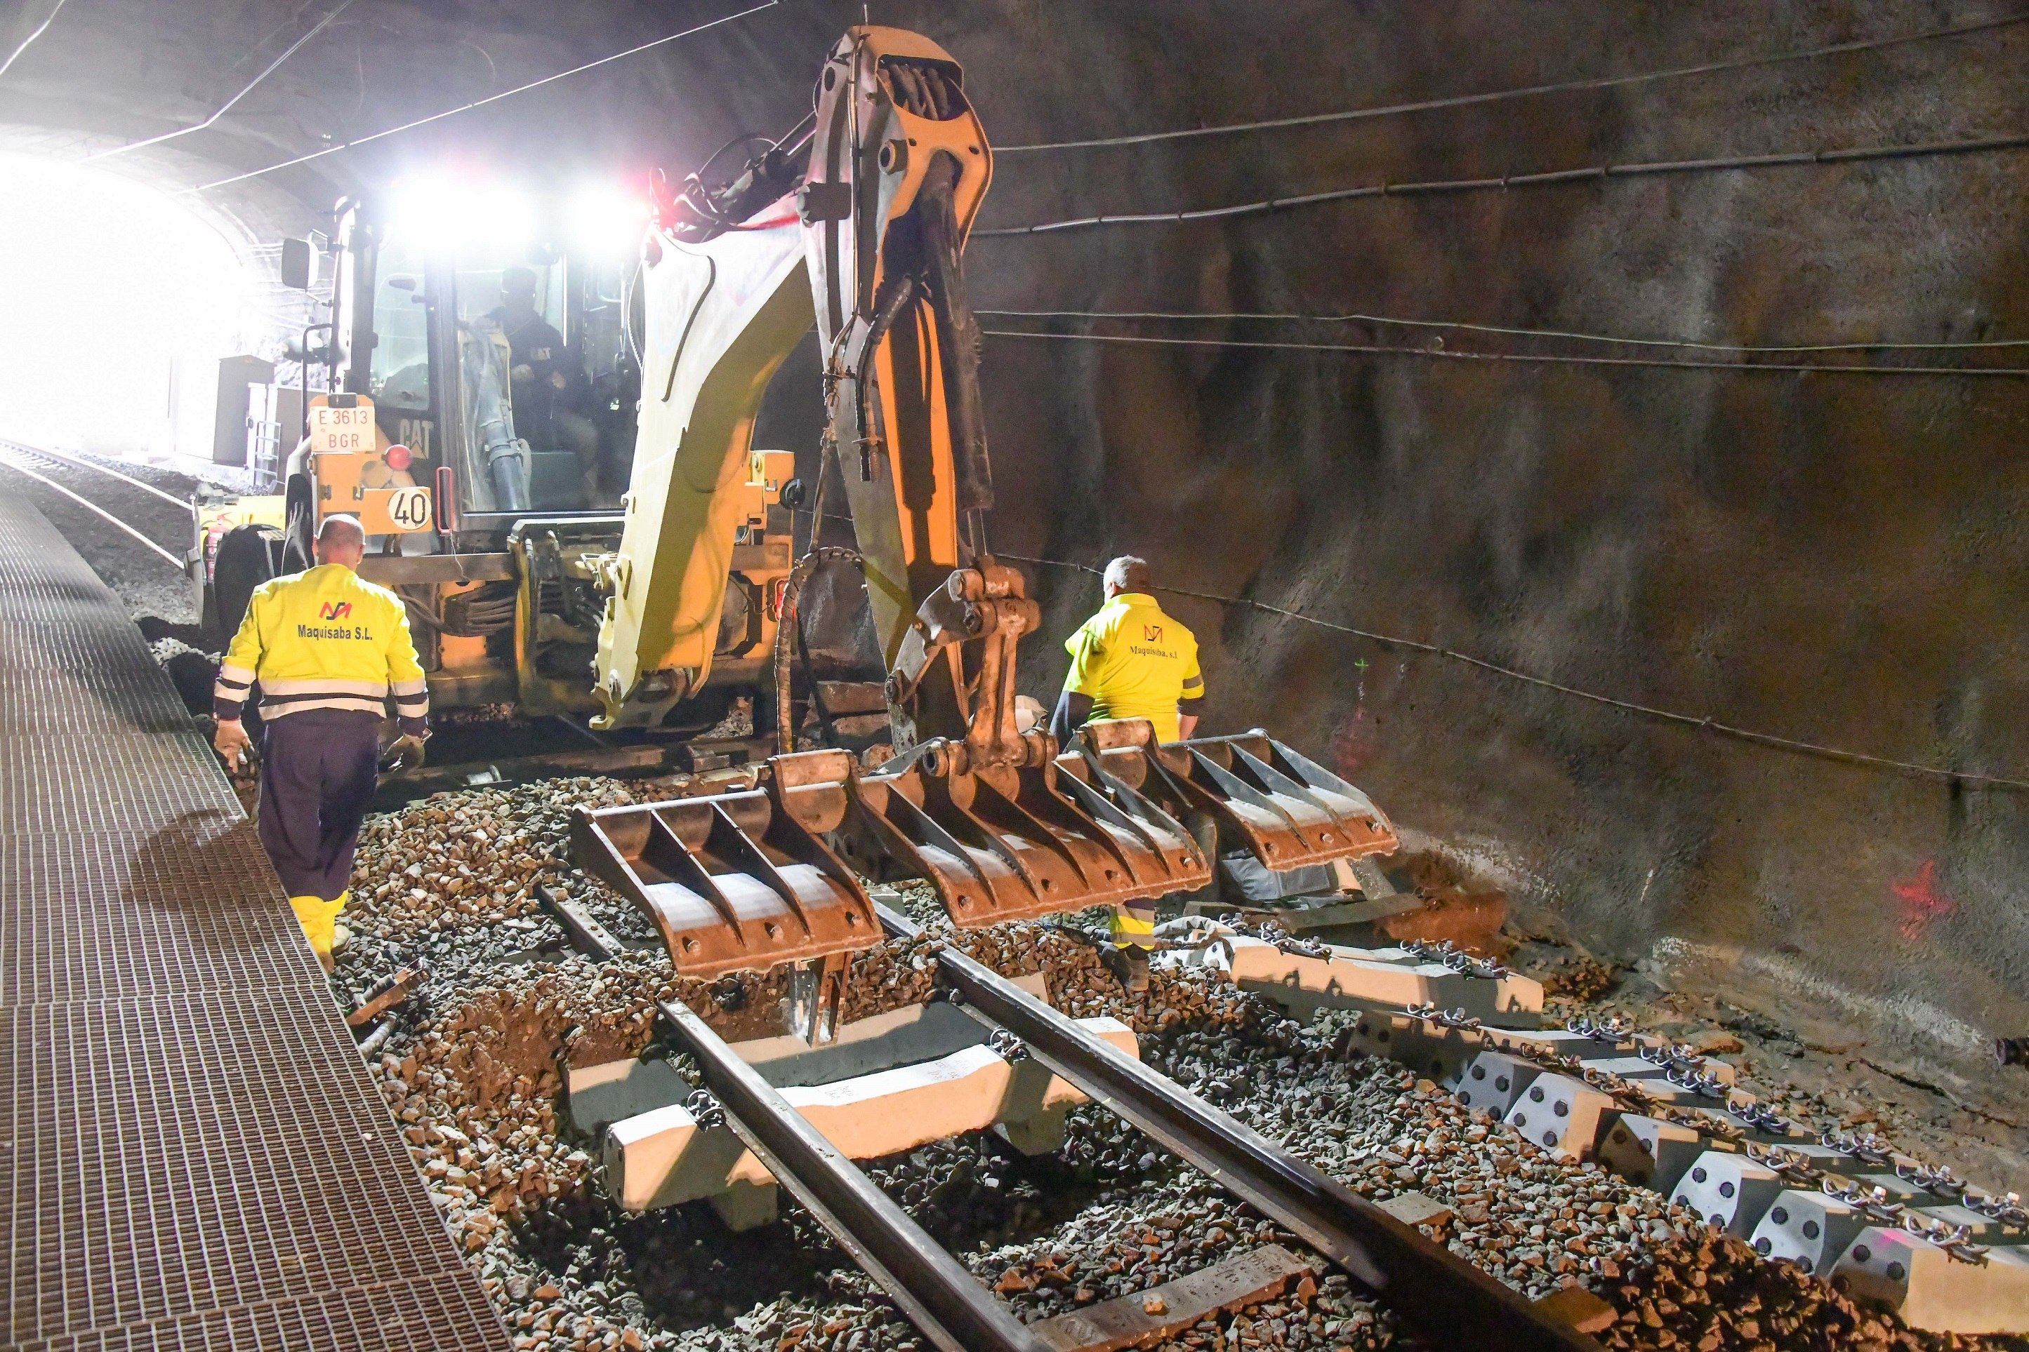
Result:
{"label": "dark trousers of the man walking beside the metal grating", "polygon": [[260,843],[290,896],[327,902],[353,882],[359,823],[379,774],[375,713],[304,709],[266,724]]}

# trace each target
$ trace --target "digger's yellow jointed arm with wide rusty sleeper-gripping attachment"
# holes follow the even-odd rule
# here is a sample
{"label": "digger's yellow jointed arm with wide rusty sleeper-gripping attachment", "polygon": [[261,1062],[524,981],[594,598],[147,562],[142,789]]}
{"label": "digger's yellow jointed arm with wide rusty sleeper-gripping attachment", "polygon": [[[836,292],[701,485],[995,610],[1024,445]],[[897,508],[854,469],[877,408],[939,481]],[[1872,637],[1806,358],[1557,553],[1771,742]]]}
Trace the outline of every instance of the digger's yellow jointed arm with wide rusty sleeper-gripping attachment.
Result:
{"label": "digger's yellow jointed arm with wide rusty sleeper-gripping attachment", "polygon": [[842,484],[856,549],[797,561],[779,612],[818,561],[862,570],[893,754],[797,752],[781,724],[753,788],[580,811],[574,853],[653,918],[686,975],[791,965],[812,1042],[850,953],[881,938],[870,878],[927,880],[970,928],[1197,890],[1230,849],[1292,870],[1396,847],[1366,795],[1264,732],[1159,744],[1124,720],[1061,748],[1017,722],[1014,653],[1039,610],[986,535],[964,286],[990,178],[950,53],[858,26],[812,118],[732,182],[666,193],[645,249],[633,482],[619,547],[590,564],[599,722],[653,722],[710,679],[739,523],[726,489],[771,373],[816,322],[820,482]]}

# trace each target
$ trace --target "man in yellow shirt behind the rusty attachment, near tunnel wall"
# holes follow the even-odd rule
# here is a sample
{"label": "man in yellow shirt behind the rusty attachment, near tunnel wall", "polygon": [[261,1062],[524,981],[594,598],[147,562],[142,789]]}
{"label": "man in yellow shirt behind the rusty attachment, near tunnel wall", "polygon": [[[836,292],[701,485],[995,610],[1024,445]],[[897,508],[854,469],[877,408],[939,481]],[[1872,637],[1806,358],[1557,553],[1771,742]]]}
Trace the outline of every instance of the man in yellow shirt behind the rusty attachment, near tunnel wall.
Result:
{"label": "man in yellow shirt behind the rusty attachment, near tunnel wall", "polygon": [[[1071,671],[1051,713],[1059,746],[1081,726],[1108,718],[1146,718],[1161,742],[1191,736],[1197,716],[1185,699],[1205,693],[1197,669],[1197,636],[1163,612],[1150,590],[1148,561],[1122,555],[1106,566],[1106,604],[1065,641]],[[1155,902],[1114,906],[1114,945],[1124,957],[1130,991],[1148,987],[1148,945],[1155,938]]]}

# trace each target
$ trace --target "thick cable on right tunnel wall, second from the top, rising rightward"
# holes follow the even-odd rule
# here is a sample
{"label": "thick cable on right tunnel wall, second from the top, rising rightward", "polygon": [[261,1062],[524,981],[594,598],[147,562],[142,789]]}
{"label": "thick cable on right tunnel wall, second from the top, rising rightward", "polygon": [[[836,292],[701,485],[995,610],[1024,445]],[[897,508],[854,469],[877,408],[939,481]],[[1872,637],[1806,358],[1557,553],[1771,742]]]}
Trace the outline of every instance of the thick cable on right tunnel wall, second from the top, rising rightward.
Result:
{"label": "thick cable on right tunnel wall, second from the top, rising rightward", "polygon": [[1593,164],[1587,168],[1550,168],[1526,174],[1501,174],[1497,178],[1424,178],[1412,182],[1370,182],[1355,189],[1327,189],[1325,193],[1297,193],[1290,197],[1270,197],[1258,203],[1234,203],[1228,207],[1195,207],[1181,211],[1132,211],[1120,215],[1071,217],[1067,221],[1039,221],[1035,225],[1002,225],[996,229],[974,229],[972,237],[1004,235],[1047,235],[1067,229],[1090,229],[1096,225],[1177,225],[1189,221],[1230,221],[1234,217],[1266,215],[1292,207],[1319,207],[1323,203],[1345,203],[1361,197],[1435,197],[1449,193],[1485,193],[1508,189],[1544,189],[1575,182],[1605,182],[1607,178],[1652,178],[1662,174],[1706,174],[1737,172],[1751,168],[1798,168],[1812,164],[1859,164],[1865,160],[1911,160],[1946,154],[1990,154],[1999,150],[2029,148],[2029,132],[2009,132],[2005,136],[1974,136],[1966,140],[1934,140],[1909,146],[1846,146],[1838,150],[1779,150],[1775,154],[1739,154],[1702,160],[1646,160],[1635,164]]}

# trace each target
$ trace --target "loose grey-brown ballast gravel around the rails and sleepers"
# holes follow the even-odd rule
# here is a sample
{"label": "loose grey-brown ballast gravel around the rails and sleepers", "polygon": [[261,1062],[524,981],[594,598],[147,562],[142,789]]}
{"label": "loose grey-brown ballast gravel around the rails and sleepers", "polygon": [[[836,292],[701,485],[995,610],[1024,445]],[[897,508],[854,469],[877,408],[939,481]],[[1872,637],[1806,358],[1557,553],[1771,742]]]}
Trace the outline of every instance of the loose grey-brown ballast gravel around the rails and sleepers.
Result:
{"label": "loose grey-brown ballast gravel around the rails and sleepers", "polygon": [[[398,1016],[375,1078],[450,1234],[517,1352],[927,1348],[793,1206],[730,1234],[704,1204],[629,1216],[574,1135],[562,1068],[643,1052],[653,1001],[678,999],[730,1040],[779,1030],[781,979],[678,977],[659,945],[590,963],[568,953],[538,884],[623,938],[647,924],[568,861],[574,805],[631,801],[619,780],[434,795],[375,817],[345,914],[335,983],[357,999],[402,965],[430,979]],[[937,922],[927,888],[901,906]],[[1615,1311],[1613,1348],[2015,1346],[1909,1334],[1824,1283],[1717,1241],[1662,1196],[1554,1157],[1400,1066],[1333,1052],[1341,1016],[1299,1026],[1215,973],[1155,975],[1130,995],[1098,951],[1051,924],[885,943],[854,961],[846,1018],[929,995],[956,943],[1006,975],[1043,973],[1057,1007],[1110,1013],[1142,1060],[1357,1192],[1420,1192],[1453,1216],[1426,1232],[1528,1295],[1583,1283]],[[864,1161],[868,1176],[1023,1320],[1146,1291],[1297,1236],[1213,1188],[1102,1107],[1071,1113],[1063,1149],[1023,1157],[990,1133]],[[1313,1257],[1315,1255],[1307,1255]],[[1382,1348],[1408,1338],[1323,1261],[1284,1295],[1205,1320],[1167,1348]]]}

